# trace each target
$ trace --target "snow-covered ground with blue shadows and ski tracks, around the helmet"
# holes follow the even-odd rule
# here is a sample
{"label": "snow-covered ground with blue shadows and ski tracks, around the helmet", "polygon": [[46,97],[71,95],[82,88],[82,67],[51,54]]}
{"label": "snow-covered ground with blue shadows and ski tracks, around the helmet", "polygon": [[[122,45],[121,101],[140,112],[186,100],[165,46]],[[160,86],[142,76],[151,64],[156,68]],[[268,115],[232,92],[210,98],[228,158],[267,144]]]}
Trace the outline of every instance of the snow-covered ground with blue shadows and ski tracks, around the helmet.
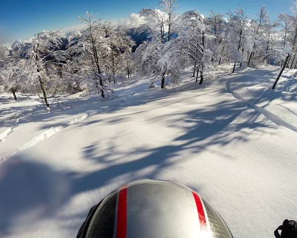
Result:
{"label": "snow-covered ground with blue shadows and ski tracks, around the helmet", "polygon": [[[116,99],[0,95],[0,237],[72,238],[107,193],[138,179],[198,191],[235,238],[273,237],[297,219],[297,79],[279,67],[219,67],[176,89],[134,77]],[[174,228],[173,228],[174,229]]]}

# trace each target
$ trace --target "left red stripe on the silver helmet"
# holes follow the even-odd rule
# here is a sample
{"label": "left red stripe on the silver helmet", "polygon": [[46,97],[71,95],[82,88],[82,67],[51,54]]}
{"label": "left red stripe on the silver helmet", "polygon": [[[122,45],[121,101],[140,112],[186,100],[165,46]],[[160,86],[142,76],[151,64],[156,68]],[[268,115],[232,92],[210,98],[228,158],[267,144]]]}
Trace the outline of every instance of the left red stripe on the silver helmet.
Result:
{"label": "left red stripe on the silver helmet", "polygon": [[127,186],[123,186],[119,191],[117,207],[116,238],[126,238],[127,234]]}

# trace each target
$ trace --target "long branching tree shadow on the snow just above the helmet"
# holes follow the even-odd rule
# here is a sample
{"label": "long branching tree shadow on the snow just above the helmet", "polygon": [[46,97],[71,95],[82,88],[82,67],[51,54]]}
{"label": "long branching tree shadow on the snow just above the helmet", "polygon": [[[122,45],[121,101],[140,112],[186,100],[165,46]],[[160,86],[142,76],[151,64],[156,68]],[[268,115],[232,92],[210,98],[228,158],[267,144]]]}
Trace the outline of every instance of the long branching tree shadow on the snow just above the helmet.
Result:
{"label": "long branching tree shadow on the snow just above the helmet", "polygon": [[[246,110],[249,110],[246,113]],[[241,113],[246,113],[238,118]],[[179,118],[176,118],[176,117]],[[98,142],[83,148],[85,159],[92,159],[99,164],[104,164],[104,168],[88,174],[69,174],[73,184],[73,193],[81,193],[86,190],[96,190],[106,186],[114,179],[121,179],[122,176],[128,177],[125,182],[135,179],[149,178],[155,179],[162,170],[173,166],[182,157],[183,151],[191,151],[198,155],[202,151],[212,150],[213,145],[225,146],[228,143],[246,142],[247,135],[261,135],[267,133],[267,128],[273,125],[266,119],[259,119],[259,114],[250,109],[243,109],[240,102],[222,102],[221,104],[199,108],[187,113],[172,114],[153,118],[153,120],[167,120],[167,125],[174,125],[176,122],[183,121],[185,125],[183,135],[178,135],[169,145],[162,145],[156,148],[137,148],[121,154],[115,161],[109,157],[117,154],[117,149],[111,144],[110,150],[105,154],[100,151]],[[162,118],[163,117],[163,118]],[[248,129],[248,130],[247,130]],[[266,130],[266,132],[264,132]],[[112,140],[111,140],[112,142]],[[98,156],[98,151],[101,155]],[[222,158],[220,151],[214,151]],[[147,154],[146,156],[140,156]],[[134,159],[127,160],[132,156]],[[185,159],[185,158],[183,158]],[[192,159],[190,156],[188,159]],[[137,172],[150,168],[145,176],[138,176]],[[130,177],[129,177],[130,175]],[[106,195],[106,194],[105,194]]]}

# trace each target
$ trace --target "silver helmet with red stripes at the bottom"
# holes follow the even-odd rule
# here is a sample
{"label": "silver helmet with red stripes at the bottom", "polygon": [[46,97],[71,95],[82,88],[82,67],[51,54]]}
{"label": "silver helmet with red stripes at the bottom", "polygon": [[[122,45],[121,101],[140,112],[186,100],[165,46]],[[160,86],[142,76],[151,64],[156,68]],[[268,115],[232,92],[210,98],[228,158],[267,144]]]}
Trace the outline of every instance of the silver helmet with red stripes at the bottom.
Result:
{"label": "silver helmet with red stripes at the bottom", "polygon": [[186,186],[139,180],[91,208],[77,238],[233,238],[201,196]]}

